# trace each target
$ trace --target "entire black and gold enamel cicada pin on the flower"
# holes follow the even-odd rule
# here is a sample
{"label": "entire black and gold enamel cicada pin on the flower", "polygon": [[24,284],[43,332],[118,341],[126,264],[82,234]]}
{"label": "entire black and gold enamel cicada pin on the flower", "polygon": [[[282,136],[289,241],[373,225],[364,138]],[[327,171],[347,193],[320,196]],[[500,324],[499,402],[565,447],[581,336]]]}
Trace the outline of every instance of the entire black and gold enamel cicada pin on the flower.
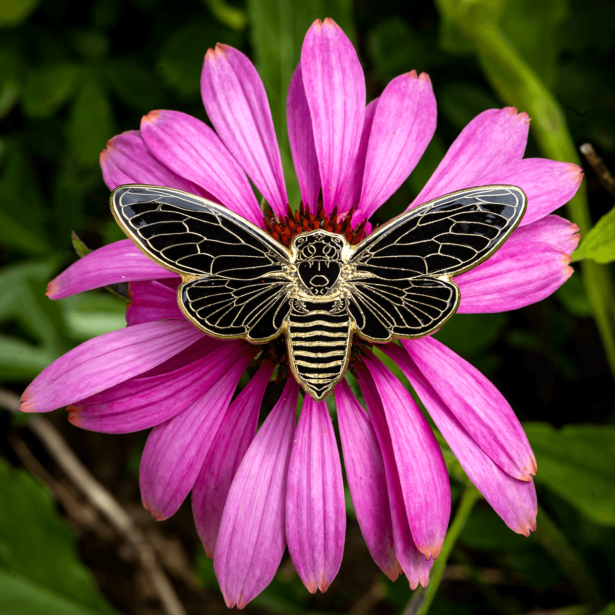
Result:
{"label": "entire black and gold enamel cicada pin on the flower", "polygon": [[178,304],[208,335],[266,343],[285,333],[293,375],[321,400],[343,377],[352,335],[418,338],[459,304],[452,277],[489,258],[525,212],[515,186],[453,192],[358,245],[316,230],[290,248],[222,205],[159,186],[119,186],[111,209],[149,258],[181,275]]}

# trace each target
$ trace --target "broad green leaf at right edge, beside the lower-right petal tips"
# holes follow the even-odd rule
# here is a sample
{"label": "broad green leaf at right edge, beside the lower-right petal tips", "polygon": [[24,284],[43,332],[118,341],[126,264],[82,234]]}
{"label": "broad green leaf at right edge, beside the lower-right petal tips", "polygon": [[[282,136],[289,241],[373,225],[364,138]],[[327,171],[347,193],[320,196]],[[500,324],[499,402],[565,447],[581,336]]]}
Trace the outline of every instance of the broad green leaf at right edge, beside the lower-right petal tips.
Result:
{"label": "broad green leaf at right edge, beside the lower-right petal tips", "polygon": [[525,423],[542,483],[599,525],[615,527],[615,427]]}

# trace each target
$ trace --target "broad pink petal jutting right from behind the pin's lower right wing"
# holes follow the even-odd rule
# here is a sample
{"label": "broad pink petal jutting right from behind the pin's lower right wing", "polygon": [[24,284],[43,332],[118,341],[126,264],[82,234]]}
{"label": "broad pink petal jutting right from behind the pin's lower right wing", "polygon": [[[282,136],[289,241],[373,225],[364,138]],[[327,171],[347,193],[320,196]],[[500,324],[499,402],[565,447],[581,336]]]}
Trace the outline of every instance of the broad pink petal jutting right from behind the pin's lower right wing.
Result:
{"label": "broad pink petal jutting right from behind the pin's lower right wing", "polygon": [[461,290],[459,314],[523,308],[548,297],[573,274],[568,254],[554,245],[526,241],[525,234],[517,240],[517,231],[488,261],[454,278]]}

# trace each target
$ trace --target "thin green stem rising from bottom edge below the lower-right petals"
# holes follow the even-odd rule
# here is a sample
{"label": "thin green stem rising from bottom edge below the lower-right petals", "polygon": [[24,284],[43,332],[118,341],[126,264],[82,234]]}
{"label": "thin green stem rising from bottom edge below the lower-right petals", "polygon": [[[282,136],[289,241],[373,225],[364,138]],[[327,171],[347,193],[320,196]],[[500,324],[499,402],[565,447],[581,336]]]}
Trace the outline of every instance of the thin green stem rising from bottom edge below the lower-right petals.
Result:
{"label": "thin green stem rising from bottom edge below the lower-right petals", "polygon": [[437,592],[438,587],[440,587],[442,574],[444,573],[444,568],[451,554],[451,550],[453,550],[461,530],[464,525],[466,525],[467,518],[470,512],[472,512],[478,498],[480,498],[480,493],[478,493],[474,485],[466,487],[466,490],[461,496],[461,502],[459,502],[459,507],[453,518],[453,522],[448,526],[442,552],[440,552],[439,557],[435,560],[431,572],[429,573],[429,585],[424,589],[422,587],[416,589],[410,601],[403,609],[402,615],[425,615],[427,611],[429,611],[429,607],[435,597],[435,592]]}

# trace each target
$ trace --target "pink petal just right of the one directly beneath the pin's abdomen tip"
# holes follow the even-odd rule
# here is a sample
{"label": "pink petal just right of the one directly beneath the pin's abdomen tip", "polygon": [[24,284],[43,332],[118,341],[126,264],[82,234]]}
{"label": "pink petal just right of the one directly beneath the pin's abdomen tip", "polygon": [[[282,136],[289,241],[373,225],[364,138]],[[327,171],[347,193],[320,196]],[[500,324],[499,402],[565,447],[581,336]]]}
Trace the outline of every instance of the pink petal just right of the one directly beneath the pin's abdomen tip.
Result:
{"label": "pink petal just right of the one directly beneath the pin's abdomen tip", "polygon": [[339,437],[352,504],[365,544],[391,581],[399,576],[384,461],[370,418],[342,379],[335,387]]}

